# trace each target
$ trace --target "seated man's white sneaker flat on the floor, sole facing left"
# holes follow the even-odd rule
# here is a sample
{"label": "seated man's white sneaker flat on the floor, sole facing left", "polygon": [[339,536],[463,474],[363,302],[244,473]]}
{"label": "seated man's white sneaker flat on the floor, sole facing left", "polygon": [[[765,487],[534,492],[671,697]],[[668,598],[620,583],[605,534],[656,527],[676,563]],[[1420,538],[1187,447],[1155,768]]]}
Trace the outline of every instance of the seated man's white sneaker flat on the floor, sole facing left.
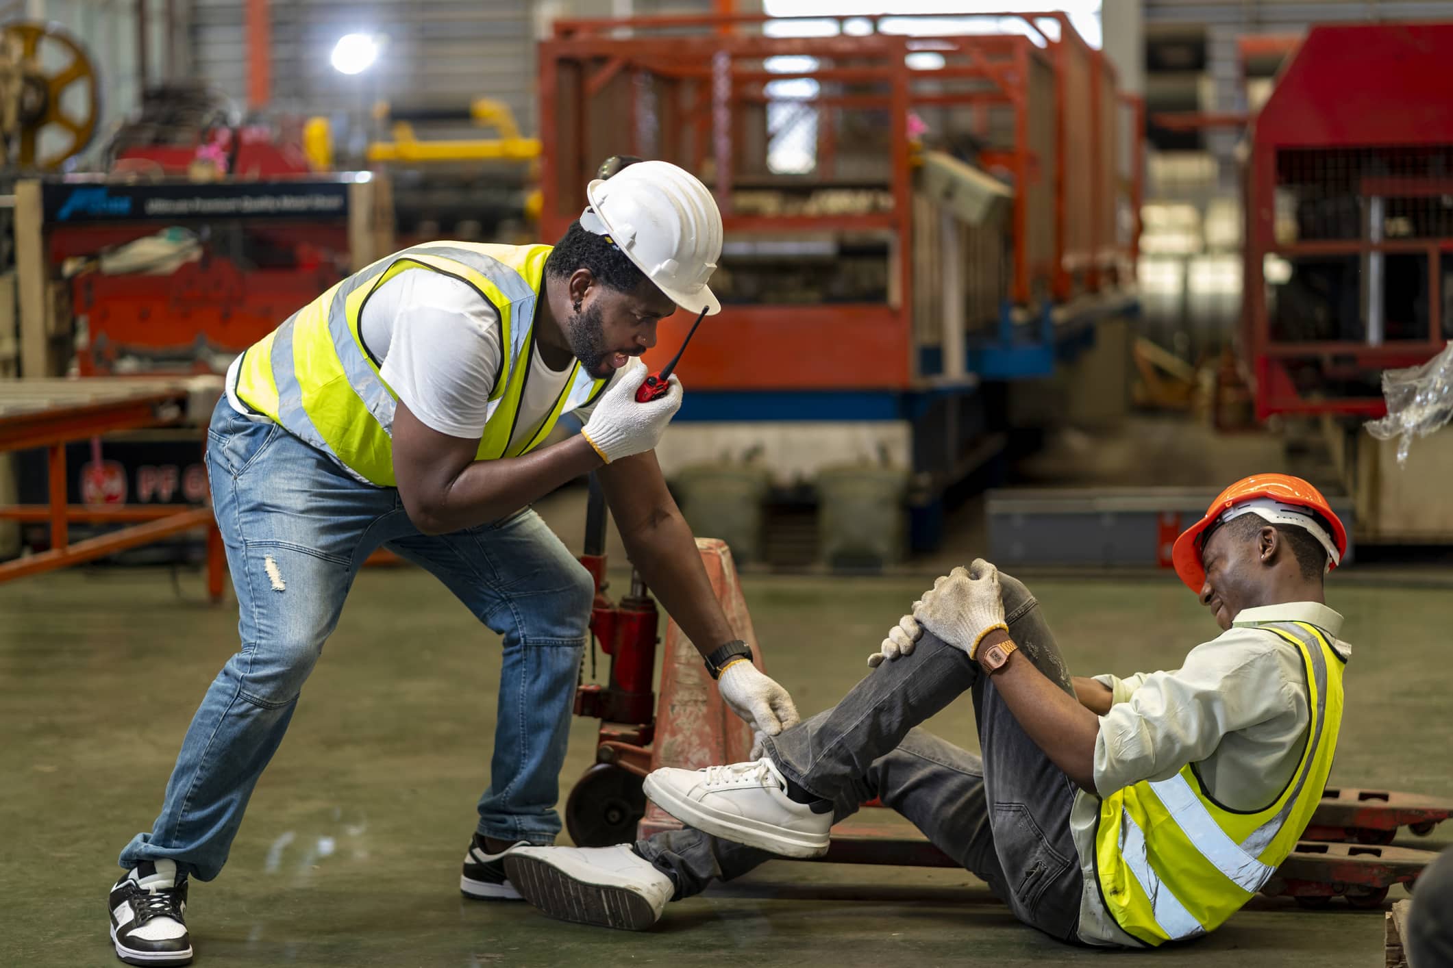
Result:
{"label": "seated man's white sneaker flat on the floor, sole facing left", "polygon": [[645,930],[676,894],[629,843],[613,848],[511,848],[510,884],[551,917],[577,924]]}

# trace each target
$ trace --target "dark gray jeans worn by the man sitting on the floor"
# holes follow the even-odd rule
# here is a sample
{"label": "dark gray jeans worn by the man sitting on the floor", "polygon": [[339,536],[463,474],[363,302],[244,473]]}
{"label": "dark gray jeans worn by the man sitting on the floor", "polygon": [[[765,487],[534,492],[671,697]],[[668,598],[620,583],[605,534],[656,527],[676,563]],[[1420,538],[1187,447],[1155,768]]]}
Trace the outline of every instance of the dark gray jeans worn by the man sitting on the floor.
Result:
{"label": "dark gray jeans worn by the man sitting on the floor", "polygon": [[[1074,694],[1039,602],[1017,579],[1001,581],[1014,643]],[[974,697],[982,758],[917,729],[963,692]],[[1021,922],[1078,940],[1082,878],[1069,830],[1075,785],[962,650],[924,633],[911,656],[883,662],[835,707],[769,740],[767,752],[785,775],[831,800],[835,820],[878,797],[987,881]],[[692,829],[655,834],[636,850],[677,884],[674,900],[774,858]]]}

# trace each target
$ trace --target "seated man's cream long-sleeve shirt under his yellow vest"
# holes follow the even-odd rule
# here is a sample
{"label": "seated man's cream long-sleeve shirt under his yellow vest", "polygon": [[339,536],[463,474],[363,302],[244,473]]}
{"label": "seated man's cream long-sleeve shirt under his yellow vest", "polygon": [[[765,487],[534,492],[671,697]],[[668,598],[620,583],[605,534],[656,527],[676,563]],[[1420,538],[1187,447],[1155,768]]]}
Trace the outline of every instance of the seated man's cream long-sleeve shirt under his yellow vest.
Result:
{"label": "seated man's cream long-sleeve shirt under his yellow vest", "polygon": [[1337,636],[1343,617],[1318,602],[1245,608],[1231,628],[1196,646],[1174,672],[1128,679],[1100,675],[1113,691],[1094,745],[1094,785],[1071,814],[1085,887],[1080,939],[1139,948],[1104,910],[1096,881],[1094,834],[1101,797],[1142,779],[1174,776],[1196,763],[1210,794],[1234,810],[1260,810],[1286,787],[1302,758],[1311,718],[1300,652],[1258,625],[1305,621],[1322,630],[1345,660],[1351,647]]}

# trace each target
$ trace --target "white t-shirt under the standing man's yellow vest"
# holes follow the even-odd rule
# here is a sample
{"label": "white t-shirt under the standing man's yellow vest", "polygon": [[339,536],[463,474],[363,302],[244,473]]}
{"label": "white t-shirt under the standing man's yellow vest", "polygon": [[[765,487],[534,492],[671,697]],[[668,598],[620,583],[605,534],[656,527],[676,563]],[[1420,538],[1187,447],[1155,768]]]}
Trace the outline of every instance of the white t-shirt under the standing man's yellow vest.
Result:
{"label": "white t-shirt under the standing man's yellow vest", "polygon": [[[384,382],[421,424],[450,437],[479,438],[500,374],[500,316],[474,287],[423,268],[402,271],[368,298],[359,334],[381,361]],[[238,360],[227,370],[227,399],[238,414],[254,417],[232,389]],[[510,443],[539,430],[570,379],[571,367],[549,369],[538,347],[529,366]],[[578,408],[571,417],[562,424],[578,430],[590,418],[590,408]]]}

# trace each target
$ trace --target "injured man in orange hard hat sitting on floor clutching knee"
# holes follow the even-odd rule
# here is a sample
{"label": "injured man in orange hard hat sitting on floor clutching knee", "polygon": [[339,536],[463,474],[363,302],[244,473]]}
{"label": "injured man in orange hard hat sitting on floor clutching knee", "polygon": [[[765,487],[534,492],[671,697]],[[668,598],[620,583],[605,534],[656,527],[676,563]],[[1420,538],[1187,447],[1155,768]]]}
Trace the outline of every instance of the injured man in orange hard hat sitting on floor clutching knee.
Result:
{"label": "injured man in orange hard hat sitting on floor clutching knee", "polygon": [[[684,830],[517,848],[510,881],[554,917],[642,929],[713,878],[821,855],[831,824],[878,797],[1048,935],[1203,935],[1286,859],[1331,769],[1348,647],[1322,575],[1345,547],[1305,480],[1232,485],[1174,549],[1222,634],[1129,679],[1071,679],[1020,582],[958,567],[847,698],[769,739],[764,759],[651,774],[647,794]],[[963,692],[982,758],[915,729]]]}

